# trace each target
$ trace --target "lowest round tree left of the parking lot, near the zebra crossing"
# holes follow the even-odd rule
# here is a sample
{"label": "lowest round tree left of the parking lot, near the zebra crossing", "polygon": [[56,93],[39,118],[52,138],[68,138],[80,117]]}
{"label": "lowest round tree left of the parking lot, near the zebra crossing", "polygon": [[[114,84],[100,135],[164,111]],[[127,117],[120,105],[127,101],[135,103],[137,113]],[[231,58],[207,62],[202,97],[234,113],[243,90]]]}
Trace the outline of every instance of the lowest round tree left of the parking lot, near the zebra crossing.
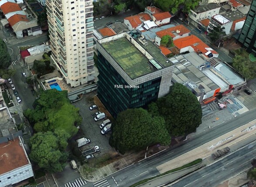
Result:
{"label": "lowest round tree left of the parking lot, near the zebra crossing", "polygon": [[67,135],[63,130],[55,132],[39,132],[30,139],[31,154],[29,158],[36,162],[39,167],[50,172],[62,171],[66,165],[68,154]]}

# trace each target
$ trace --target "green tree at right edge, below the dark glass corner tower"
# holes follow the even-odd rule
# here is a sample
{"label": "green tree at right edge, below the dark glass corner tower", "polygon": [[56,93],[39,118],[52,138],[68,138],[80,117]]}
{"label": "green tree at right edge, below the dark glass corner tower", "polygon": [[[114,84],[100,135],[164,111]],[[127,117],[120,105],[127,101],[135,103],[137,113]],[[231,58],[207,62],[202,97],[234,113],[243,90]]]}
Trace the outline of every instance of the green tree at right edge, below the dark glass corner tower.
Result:
{"label": "green tree at right edge, below the dark glass corner tower", "polygon": [[247,80],[256,78],[256,66],[248,58],[236,55],[233,58],[233,67],[246,77]]}

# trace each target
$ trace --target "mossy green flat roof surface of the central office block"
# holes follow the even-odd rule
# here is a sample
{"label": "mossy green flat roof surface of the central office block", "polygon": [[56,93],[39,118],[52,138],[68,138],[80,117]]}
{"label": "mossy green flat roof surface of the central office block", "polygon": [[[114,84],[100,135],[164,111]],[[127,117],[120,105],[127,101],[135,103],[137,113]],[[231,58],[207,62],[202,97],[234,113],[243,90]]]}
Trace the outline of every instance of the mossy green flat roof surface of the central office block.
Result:
{"label": "mossy green flat roof surface of the central office block", "polygon": [[155,71],[153,66],[150,66],[149,59],[133,46],[126,37],[102,43],[102,46],[131,79]]}

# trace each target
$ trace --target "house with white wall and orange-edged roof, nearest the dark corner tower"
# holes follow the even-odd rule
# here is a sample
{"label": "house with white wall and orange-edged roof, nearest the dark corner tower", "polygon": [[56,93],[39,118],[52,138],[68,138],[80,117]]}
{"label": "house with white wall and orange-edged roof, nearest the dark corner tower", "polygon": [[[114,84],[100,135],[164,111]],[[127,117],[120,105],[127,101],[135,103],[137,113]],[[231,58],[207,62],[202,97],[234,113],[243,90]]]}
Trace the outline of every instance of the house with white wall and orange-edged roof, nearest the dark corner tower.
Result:
{"label": "house with white wall and orange-edged roof, nearest the dark corner tower", "polygon": [[237,31],[237,30],[242,29],[242,26],[246,20],[246,15],[239,12],[238,10],[222,14],[222,16],[224,16],[225,18],[227,18],[233,22],[231,31]]}

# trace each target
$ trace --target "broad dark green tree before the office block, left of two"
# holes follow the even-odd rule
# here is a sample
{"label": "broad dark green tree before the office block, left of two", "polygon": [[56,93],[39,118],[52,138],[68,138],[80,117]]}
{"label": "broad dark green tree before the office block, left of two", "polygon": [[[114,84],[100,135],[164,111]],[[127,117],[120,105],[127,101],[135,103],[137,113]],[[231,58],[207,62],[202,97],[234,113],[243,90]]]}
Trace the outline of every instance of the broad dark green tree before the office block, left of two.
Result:
{"label": "broad dark green tree before the office block, left of two", "polygon": [[171,137],[164,126],[164,119],[151,118],[142,108],[120,112],[113,125],[109,144],[124,154],[130,150],[141,150],[152,144],[170,144]]}

